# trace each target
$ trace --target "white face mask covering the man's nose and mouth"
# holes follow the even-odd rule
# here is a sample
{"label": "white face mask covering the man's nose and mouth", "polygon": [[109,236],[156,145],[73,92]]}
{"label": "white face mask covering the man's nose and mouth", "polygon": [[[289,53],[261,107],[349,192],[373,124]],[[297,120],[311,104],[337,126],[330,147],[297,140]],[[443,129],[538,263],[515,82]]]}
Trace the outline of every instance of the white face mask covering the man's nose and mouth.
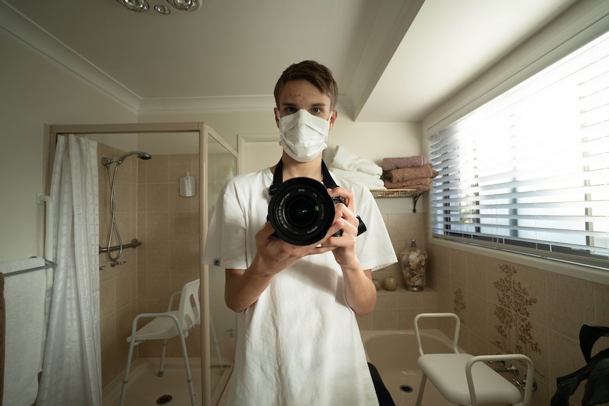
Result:
{"label": "white face mask covering the man's nose and mouth", "polygon": [[[278,113],[279,114],[279,113]],[[326,149],[328,120],[316,117],[305,109],[279,119],[279,145],[298,162],[309,162]]]}

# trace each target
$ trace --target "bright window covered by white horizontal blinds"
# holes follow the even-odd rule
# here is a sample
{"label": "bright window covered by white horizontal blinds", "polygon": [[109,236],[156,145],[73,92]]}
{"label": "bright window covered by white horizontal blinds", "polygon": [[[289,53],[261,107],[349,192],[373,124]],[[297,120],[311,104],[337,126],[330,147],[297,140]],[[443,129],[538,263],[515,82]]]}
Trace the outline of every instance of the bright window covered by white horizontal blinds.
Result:
{"label": "bright window covered by white horizontal blinds", "polygon": [[432,234],[609,270],[609,33],[430,138]]}

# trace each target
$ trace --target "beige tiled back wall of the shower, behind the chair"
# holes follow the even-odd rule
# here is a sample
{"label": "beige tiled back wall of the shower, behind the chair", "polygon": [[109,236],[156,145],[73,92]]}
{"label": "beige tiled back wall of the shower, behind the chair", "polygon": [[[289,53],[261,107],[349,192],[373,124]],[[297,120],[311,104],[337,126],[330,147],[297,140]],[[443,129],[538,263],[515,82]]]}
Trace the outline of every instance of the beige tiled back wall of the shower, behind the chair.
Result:
{"label": "beige tiled back wall of the shower, behind the chair", "polygon": [[[179,196],[187,172],[199,174],[198,154],[138,160],[138,313],[167,311],[172,292],[199,278],[199,179],[196,196]],[[160,357],[160,350],[160,342],[148,342],[139,356]],[[187,350],[201,357],[201,326],[190,333]],[[167,357],[182,357],[177,339],[167,343]]]}

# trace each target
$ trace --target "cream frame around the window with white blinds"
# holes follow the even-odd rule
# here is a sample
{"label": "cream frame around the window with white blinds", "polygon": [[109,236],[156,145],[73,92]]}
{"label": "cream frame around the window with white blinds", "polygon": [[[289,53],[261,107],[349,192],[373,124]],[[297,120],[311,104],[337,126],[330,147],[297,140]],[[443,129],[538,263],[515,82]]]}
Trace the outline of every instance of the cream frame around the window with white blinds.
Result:
{"label": "cream frame around the window with white blinds", "polygon": [[[603,7],[604,6],[604,7]],[[556,61],[574,52],[579,47],[609,31],[609,10],[606,2],[586,1],[574,4],[561,16],[541,29],[514,52],[499,61],[487,72],[473,80],[447,102],[444,102],[423,121],[423,141],[430,150],[430,137],[440,129],[458,121],[461,117],[473,112],[486,102],[501,95],[515,85],[554,64]],[[430,201],[427,203],[430,205]],[[430,224],[433,215],[430,208]],[[515,253],[509,249],[497,251],[488,247],[456,242],[454,238],[436,237],[430,227],[430,242],[491,256],[504,258],[507,261],[533,265],[545,270],[552,270],[565,275],[579,275],[586,280],[603,282],[609,285],[609,272],[590,268],[579,263],[558,263],[545,258],[530,256],[526,252]]]}

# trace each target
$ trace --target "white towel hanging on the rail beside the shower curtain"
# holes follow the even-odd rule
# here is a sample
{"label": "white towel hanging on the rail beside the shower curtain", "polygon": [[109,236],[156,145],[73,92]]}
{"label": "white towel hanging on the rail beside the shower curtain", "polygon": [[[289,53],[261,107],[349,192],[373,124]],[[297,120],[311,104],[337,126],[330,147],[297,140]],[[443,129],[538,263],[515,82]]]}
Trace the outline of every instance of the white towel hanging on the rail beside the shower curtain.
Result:
{"label": "white towel hanging on the rail beside the shower curtain", "polygon": [[[42,370],[42,338],[45,334],[44,258],[0,263],[4,273],[6,306],[6,358],[4,359],[4,405],[33,405]],[[19,270],[41,268],[11,275]]]}

